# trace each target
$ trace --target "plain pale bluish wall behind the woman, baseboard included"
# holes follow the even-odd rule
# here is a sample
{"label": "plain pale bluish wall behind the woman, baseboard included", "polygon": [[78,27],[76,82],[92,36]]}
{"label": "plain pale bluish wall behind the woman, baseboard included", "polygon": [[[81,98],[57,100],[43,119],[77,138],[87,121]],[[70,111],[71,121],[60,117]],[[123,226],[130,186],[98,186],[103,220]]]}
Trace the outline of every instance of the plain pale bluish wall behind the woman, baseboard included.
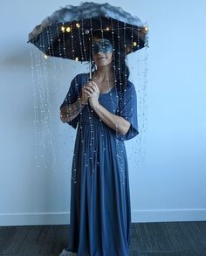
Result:
{"label": "plain pale bluish wall behind the woman, baseboard included", "polygon": [[[12,3],[12,8],[9,2],[1,3],[0,225],[69,224],[70,165],[76,130],[59,121],[58,107],[73,74],[86,67],[77,70],[72,65],[71,70],[68,62],[55,60],[57,73],[48,80],[54,145],[46,146],[47,154],[38,167],[30,59],[30,53],[37,51],[25,43],[36,24],[67,3],[21,0]],[[206,220],[206,3],[108,3],[149,24],[144,161],[138,161],[141,156],[133,149],[139,150],[140,140],[127,142],[132,221]],[[134,84],[135,72],[134,68]]]}

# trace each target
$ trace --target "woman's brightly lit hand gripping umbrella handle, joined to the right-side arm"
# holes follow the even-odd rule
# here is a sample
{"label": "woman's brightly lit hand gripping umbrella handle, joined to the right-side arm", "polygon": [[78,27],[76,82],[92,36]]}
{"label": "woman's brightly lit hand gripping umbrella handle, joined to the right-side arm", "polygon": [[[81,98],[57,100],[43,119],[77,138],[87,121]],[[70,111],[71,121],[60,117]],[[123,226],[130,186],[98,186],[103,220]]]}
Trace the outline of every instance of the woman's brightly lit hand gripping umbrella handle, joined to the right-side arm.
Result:
{"label": "woman's brightly lit hand gripping umbrella handle, joined to the right-side arm", "polygon": [[87,97],[89,97],[89,103],[91,107],[99,104],[100,90],[94,81],[89,81],[84,88]]}

